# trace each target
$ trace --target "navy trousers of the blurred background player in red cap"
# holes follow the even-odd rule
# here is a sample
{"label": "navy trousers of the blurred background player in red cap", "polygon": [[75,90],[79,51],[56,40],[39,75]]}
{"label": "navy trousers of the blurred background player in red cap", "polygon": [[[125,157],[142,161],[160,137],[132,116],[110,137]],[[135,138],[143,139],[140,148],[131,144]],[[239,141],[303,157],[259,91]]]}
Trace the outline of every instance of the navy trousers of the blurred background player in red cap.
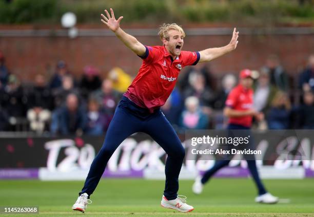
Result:
{"label": "navy trousers of the blurred background player in red cap", "polygon": [[[241,136],[244,136],[243,134],[248,134],[248,135],[250,134],[250,128],[245,127],[245,126],[241,126],[241,125],[229,124],[227,129],[229,130],[230,136],[233,133],[237,134],[238,129],[243,130],[240,133],[240,134],[242,134]],[[232,131],[232,130],[235,130],[235,131]],[[239,136],[239,135],[237,135],[237,136]],[[250,145],[253,148],[253,144],[251,143]],[[253,178],[253,180],[254,180],[257,188],[258,188],[258,194],[261,195],[261,194],[266,193],[267,191],[266,191],[266,189],[265,189],[265,187],[264,187],[264,185],[260,179],[259,172],[257,170],[256,160],[254,160],[253,156],[249,156],[249,157],[244,156],[244,158],[249,159],[249,160],[246,160],[247,166],[248,166],[248,169],[251,173],[251,176],[252,176],[252,178]],[[214,175],[214,173],[216,173],[221,168],[227,166],[229,164],[229,162],[230,162],[230,156],[228,156],[226,160],[216,161],[214,166],[204,173],[204,176],[203,176],[201,182],[203,184],[205,184]]]}

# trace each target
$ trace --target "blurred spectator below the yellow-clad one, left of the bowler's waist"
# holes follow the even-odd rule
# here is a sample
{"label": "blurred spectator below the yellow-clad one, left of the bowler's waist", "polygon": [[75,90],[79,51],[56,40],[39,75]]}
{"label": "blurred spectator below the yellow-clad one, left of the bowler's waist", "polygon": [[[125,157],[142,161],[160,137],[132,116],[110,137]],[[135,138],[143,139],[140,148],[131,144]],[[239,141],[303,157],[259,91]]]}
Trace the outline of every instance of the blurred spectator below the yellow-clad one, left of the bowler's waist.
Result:
{"label": "blurred spectator below the yellow-clad one, left of the bowler's waist", "polygon": [[94,92],[92,97],[97,99],[106,114],[108,114],[110,117],[113,117],[117,102],[121,98],[121,93],[113,90],[113,84],[111,80],[104,79],[102,83],[102,89]]}

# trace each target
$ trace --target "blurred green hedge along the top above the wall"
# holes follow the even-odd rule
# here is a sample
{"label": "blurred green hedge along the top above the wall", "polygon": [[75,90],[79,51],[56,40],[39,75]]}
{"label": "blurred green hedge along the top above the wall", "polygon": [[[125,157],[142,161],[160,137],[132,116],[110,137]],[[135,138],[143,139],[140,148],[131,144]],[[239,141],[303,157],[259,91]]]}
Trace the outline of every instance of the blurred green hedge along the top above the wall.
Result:
{"label": "blurred green hedge along the top above the wall", "polygon": [[58,24],[67,11],[78,23],[99,23],[100,13],[110,7],[125,23],[314,22],[314,0],[303,5],[298,0],[0,0],[0,23]]}

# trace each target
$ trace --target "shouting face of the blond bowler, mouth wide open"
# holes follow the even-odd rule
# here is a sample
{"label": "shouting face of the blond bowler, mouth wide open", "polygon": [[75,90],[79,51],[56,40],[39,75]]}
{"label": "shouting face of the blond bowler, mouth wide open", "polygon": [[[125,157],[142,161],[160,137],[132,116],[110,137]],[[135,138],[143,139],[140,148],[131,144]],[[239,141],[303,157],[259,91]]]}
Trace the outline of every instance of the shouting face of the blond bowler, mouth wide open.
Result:
{"label": "shouting face of the blond bowler, mouth wide open", "polygon": [[179,56],[183,47],[183,34],[178,30],[168,31],[169,40],[164,39],[164,45],[172,56]]}

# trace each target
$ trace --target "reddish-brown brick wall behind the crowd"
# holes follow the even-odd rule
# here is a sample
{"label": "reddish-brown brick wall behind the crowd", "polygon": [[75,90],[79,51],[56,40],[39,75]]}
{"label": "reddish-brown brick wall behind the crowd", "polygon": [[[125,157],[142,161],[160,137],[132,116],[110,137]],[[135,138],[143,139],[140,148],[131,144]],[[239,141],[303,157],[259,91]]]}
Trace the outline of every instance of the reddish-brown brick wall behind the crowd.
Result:
{"label": "reddish-brown brick wall behind the crowd", "polygon": [[[145,45],[160,45],[158,36],[138,36]],[[230,36],[187,36],[184,50],[198,51],[226,45]],[[0,51],[6,56],[9,69],[22,80],[30,81],[36,73],[51,73],[55,63],[63,59],[69,69],[80,76],[87,64],[93,64],[105,76],[115,66],[135,75],[141,59],[119,39],[103,37],[0,37]],[[309,35],[241,35],[236,51],[210,65],[214,73],[237,72],[242,68],[259,69],[269,54],[277,54],[291,76],[306,64],[314,53],[314,36]],[[50,67],[50,70],[48,70]]]}

